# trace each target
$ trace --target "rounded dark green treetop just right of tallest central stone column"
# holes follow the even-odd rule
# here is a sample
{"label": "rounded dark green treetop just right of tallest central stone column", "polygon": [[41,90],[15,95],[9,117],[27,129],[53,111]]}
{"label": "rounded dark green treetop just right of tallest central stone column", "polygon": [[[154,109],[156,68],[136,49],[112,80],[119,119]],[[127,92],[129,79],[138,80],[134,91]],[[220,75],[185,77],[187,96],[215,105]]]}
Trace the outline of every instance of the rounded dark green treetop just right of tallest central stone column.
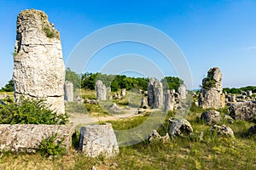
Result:
{"label": "rounded dark green treetop just right of tallest central stone column", "polygon": [[175,91],[177,91],[177,88],[183,83],[183,80],[178,77],[164,77],[161,82],[163,83],[165,91],[167,89],[175,89]]}

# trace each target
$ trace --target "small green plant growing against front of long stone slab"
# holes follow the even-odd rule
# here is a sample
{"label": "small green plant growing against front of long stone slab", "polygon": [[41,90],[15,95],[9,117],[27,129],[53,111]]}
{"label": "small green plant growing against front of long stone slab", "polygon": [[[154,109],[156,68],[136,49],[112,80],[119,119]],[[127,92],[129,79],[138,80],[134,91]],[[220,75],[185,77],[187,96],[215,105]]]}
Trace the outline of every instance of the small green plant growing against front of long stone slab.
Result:
{"label": "small green plant growing against front of long stone slab", "polygon": [[55,133],[49,138],[43,139],[39,146],[42,156],[60,156],[66,152],[62,145],[64,138],[61,141],[56,141],[57,137],[58,133]]}

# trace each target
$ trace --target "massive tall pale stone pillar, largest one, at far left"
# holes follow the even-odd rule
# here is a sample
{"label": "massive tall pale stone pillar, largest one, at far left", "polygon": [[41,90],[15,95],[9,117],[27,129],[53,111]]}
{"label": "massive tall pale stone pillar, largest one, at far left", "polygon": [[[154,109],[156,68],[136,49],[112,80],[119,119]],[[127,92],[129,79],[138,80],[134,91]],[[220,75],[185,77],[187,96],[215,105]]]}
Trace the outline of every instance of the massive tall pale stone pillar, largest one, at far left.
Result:
{"label": "massive tall pale stone pillar, largest one, at far left", "polygon": [[60,34],[43,11],[21,11],[17,18],[14,53],[15,101],[45,99],[59,114],[64,108],[65,66]]}

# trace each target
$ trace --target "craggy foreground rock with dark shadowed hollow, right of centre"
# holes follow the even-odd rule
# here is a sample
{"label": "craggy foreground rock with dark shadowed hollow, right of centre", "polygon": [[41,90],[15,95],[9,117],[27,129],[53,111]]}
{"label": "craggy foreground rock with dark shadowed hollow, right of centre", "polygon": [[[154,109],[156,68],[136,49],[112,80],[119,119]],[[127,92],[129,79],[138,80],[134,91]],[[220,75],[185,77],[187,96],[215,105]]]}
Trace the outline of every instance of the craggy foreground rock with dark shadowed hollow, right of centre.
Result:
{"label": "craggy foreground rock with dark shadowed hollow, right of centre", "polygon": [[169,119],[171,123],[169,135],[172,138],[183,135],[190,135],[193,133],[193,128],[186,119]]}

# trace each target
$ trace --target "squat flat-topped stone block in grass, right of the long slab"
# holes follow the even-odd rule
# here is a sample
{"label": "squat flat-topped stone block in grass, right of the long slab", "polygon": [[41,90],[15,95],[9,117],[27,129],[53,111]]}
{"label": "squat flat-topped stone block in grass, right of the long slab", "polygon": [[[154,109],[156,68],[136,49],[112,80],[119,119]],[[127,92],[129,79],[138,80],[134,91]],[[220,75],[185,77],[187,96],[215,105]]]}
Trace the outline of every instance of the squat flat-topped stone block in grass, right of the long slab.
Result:
{"label": "squat flat-topped stone block in grass, right of the long slab", "polygon": [[119,145],[111,123],[81,127],[79,148],[90,157],[119,154]]}

